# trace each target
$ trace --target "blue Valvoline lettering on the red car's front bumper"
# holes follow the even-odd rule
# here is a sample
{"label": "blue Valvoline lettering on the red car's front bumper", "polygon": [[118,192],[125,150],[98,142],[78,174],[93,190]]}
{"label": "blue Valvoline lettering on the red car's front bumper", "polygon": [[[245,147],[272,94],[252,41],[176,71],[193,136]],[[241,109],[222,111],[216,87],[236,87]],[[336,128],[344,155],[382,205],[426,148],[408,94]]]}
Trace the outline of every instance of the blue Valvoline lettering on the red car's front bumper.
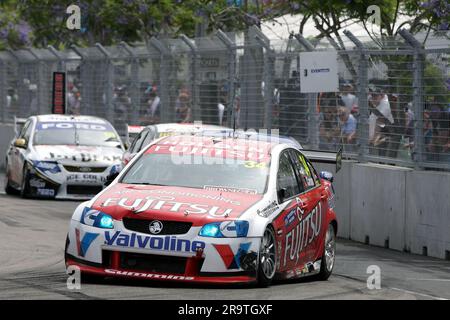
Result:
{"label": "blue Valvoline lettering on the red car's front bumper", "polygon": [[203,241],[179,239],[175,236],[144,236],[134,232],[127,234],[121,231],[105,231],[105,244],[108,246],[194,253],[199,249],[205,249],[206,246]]}

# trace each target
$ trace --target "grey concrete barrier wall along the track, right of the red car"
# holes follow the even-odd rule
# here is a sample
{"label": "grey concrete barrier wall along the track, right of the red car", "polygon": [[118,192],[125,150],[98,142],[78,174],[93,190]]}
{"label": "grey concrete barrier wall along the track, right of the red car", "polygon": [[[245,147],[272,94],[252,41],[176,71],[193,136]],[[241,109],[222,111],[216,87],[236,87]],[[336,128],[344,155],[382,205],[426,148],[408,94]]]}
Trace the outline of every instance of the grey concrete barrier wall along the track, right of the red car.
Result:
{"label": "grey concrete barrier wall along the track, right of the red car", "polygon": [[334,174],[338,236],[450,260],[450,173],[343,161]]}

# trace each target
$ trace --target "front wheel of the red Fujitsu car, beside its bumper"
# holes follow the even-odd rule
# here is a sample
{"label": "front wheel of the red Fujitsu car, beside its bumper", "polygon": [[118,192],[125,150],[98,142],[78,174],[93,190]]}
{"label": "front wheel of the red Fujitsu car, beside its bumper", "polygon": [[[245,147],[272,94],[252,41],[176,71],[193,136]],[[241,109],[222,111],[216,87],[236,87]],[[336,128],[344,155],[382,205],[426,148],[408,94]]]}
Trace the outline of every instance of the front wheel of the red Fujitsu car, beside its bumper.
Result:
{"label": "front wheel of the red Fujitsu car, beside its bumper", "polygon": [[276,271],[276,240],[275,233],[271,227],[264,231],[264,236],[259,249],[258,261],[258,285],[267,287],[275,277]]}

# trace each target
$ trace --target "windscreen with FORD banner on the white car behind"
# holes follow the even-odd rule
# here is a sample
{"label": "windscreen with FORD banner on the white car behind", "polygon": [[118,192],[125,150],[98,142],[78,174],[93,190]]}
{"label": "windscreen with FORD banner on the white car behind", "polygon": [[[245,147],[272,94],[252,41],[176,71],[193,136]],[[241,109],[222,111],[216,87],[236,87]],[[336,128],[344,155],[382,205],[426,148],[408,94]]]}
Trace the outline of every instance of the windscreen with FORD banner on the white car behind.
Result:
{"label": "windscreen with FORD banner on the white car behind", "polygon": [[120,139],[108,123],[38,122],[34,145],[119,147]]}

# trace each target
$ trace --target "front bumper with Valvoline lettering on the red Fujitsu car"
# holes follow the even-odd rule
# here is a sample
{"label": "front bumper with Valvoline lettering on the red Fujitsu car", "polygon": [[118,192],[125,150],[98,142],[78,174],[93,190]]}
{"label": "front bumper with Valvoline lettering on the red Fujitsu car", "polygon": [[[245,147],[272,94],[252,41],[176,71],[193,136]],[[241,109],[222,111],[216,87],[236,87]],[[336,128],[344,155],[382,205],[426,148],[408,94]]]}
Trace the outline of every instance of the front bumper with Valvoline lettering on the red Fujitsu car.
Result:
{"label": "front bumper with Valvoline lettering on the red Fujitsu car", "polygon": [[260,238],[199,237],[199,227],[184,235],[153,236],[126,230],[122,221],[114,223],[115,229],[106,230],[72,220],[66,266],[105,277],[198,283],[256,281]]}

